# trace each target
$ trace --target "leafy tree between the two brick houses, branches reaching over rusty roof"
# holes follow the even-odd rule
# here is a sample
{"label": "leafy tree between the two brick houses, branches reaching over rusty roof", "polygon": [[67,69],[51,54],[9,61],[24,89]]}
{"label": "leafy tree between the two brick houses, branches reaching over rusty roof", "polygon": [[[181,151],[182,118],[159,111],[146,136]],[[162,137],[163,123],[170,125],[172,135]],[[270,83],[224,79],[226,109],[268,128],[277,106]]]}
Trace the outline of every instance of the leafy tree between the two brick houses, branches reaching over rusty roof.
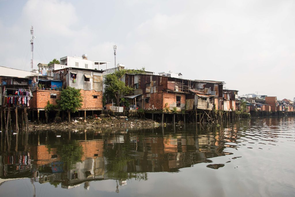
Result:
{"label": "leafy tree between the two brick houses, branches reaching over rusty roof", "polygon": [[109,98],[114,98],[119,105],[120,99],[127,94],[130,94],[133,90],[132,87],[126,86],[125,82],[122,82],[122,77],[126,74],[144,74],[145,68],[130,70],[130,69],[121,69],[117,70],[112,74],[105,76],[105,93]]}

